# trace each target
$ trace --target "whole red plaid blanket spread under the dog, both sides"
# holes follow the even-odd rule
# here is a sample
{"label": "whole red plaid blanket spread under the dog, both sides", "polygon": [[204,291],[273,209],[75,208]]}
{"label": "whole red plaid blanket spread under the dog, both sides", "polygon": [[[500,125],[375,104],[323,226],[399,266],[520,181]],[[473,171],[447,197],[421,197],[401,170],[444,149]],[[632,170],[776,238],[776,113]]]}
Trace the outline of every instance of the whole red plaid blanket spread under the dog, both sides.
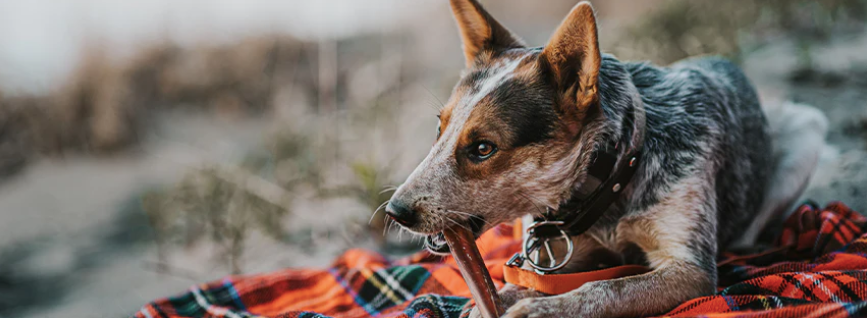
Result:
{"label": "whole red plaid blanket spread under the dog, both sides", "polygon": [[[716,295],[681,304],[671,317],[867,316],[865,218],[842,203],[801,206],[776,248],[724,255]],[[479,240],[491,276],[518,251],[503,225]],[[389,262],[350,250],[328,269],[227,277],[145,305],[135,317],[460,317],[469,292],[450,258],[421,252]]]}

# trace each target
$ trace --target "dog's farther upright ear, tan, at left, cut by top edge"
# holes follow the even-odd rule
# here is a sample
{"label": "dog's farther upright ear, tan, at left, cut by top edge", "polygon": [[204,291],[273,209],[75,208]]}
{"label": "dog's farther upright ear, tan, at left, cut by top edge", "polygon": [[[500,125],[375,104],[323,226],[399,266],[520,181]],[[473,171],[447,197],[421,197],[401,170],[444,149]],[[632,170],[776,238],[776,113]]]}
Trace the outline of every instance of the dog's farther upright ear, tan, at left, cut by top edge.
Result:
{"label": "dog's farther upright ear, tan, at left, cut by top edge", "polygon": [[451,0],[452,12],[461,31],[467,67],[479,53],[523,47],[524,43],[495,20],[476,0]]}

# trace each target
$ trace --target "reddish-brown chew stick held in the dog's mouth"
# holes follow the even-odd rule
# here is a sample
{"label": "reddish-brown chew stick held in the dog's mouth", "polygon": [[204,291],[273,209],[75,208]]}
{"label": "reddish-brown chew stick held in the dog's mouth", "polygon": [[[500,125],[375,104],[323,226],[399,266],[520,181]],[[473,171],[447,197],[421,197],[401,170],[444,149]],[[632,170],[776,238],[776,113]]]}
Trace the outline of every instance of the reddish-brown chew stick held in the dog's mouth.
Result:
{"label": "reddish-brown chew stick held in the dog's mouth", "polygon": [[485,318],[500,317],[505,313],[505,310],[500,303],[494,281],[491,280],[491,275],[488,274],[488,269],[485,267],[482,254],[479,253],[479,248],[476,246],[473,233],[468,229],[456,227],[443,231],[443,236],[458,263],[461,276],[470,287],[470,293],[473,295],[476,307],[479,308],[482,316]]}

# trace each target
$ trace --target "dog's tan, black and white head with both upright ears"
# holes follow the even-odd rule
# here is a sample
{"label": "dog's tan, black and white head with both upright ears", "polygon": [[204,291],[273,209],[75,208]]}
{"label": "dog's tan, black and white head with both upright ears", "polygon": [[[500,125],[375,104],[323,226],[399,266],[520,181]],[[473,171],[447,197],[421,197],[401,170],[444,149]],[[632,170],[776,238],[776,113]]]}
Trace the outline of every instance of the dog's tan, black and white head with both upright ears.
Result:
{"label": "dog's tan, black and white head with both upright ears", "polygon": [[467,69],[430,153],[386,207],[419,234],[490,225],[557,206],[576,182],[582,133],[601,115],[602,61],[582,2],[543,48],[527,48],[475,0],[451,0]]}

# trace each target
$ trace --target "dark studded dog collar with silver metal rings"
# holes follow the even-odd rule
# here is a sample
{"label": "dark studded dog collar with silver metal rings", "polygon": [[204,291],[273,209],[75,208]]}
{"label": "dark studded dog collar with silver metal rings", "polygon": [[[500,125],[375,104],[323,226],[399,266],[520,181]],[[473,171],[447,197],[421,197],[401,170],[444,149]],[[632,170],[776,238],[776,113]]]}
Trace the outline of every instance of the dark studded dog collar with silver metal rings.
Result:
{"label": "dark studded dog collar with silver metal rings", "polygon": [[[589,230],[620,197],[621,190],[638,170],[645,118],[643,109],[635,109],[630,115],[633,123],[631,148],[623,151],[620,160],[617,156],[617,151],[621,150],[618,149],[619,145],[613,147],[614,151],[609,147],[594,151],[592,163],[588,167],[589,182],[585,182],[593,190],[589,194],[588,191],[581,191],[586,189],[573,192],[572,197],[557,209],[566,212],[565,215],[561,213],[558,217],[548,208],[543,218],[536,219],[527,228],[521,253],[515,254],[506,265],[521,266],[527,261],[537,273],[545,274],[562,269],[569,263],[575,249],[571,237]],[[566,241],[566,255],[563,257],[554,255],[551,248],[551,242],[558,239]],[[547,265],[540,262],[542,247],[548,255]]]}

